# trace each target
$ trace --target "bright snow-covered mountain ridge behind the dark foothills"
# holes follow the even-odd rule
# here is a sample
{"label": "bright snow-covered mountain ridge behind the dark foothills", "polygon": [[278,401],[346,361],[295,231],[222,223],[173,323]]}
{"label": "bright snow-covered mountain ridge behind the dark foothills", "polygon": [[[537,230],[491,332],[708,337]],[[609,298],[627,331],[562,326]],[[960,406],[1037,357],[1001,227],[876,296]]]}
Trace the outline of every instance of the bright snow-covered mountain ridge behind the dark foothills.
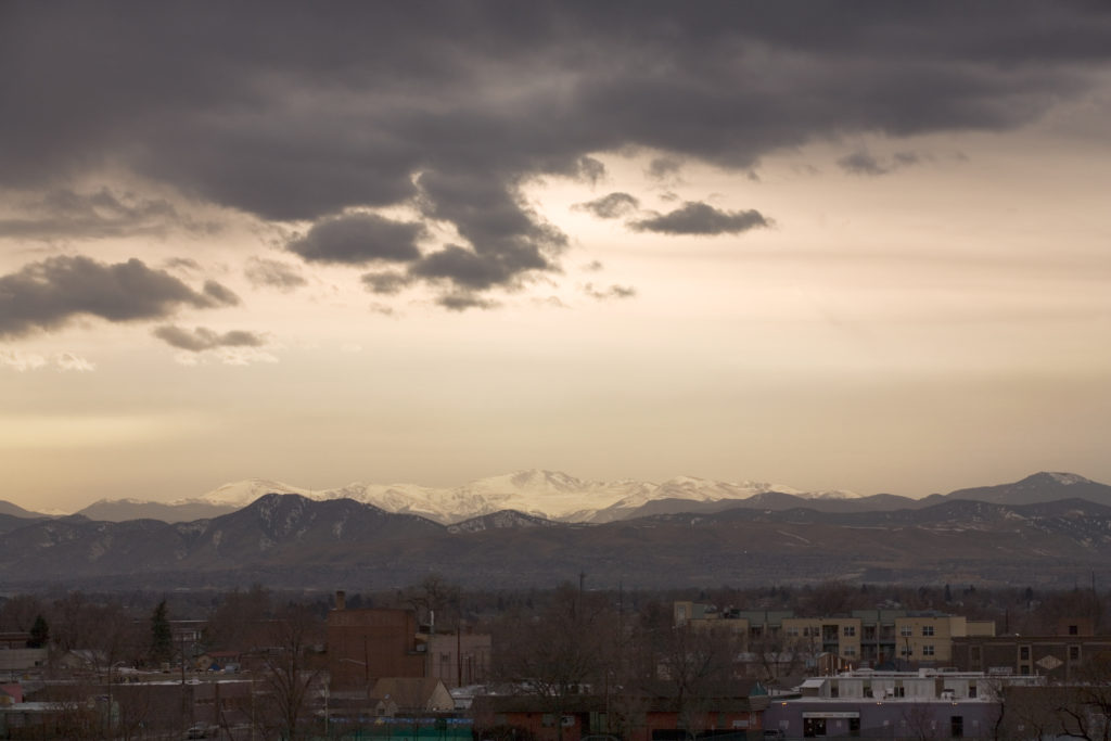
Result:
{"label": "bright snow-covered mountain ridge behind the dark foothills", "polygon": [[207,503],[246,507],[268,493],[301,494],[310,499],[353,499],[388,512],[419,514],[444,524],[492,514],[502,510],[563,522],[609,522],[621,512],[651,501],[682,499],[697,502],[743,500],[765,492],[802,498],[857,498],[852,492],[812,494],[757,481],[725,482],[694,477],[677,477],[662,483],[621,479],[590,481],[559,471],[530,469],[478,479],[461,487],[439,489],[418,484],[353,482],[336,489],[312,490],[267,479],[247,479],[223,484],[197,499],[177,504]]}

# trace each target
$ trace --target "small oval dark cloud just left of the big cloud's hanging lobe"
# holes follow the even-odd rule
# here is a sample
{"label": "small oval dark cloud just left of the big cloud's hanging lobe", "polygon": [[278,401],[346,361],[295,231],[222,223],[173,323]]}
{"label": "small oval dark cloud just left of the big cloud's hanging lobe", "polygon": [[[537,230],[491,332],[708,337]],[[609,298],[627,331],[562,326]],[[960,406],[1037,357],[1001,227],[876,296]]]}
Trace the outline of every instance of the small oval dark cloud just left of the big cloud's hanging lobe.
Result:
{"label": "small oval dark cloud just left of the big cloud's hanging lobe", "polygon": [[423,224],[393,221],[376,213],[348,213],[318,221],[287,247],[316,262],[366,264],[377,260],[409,262],[420,257]]}

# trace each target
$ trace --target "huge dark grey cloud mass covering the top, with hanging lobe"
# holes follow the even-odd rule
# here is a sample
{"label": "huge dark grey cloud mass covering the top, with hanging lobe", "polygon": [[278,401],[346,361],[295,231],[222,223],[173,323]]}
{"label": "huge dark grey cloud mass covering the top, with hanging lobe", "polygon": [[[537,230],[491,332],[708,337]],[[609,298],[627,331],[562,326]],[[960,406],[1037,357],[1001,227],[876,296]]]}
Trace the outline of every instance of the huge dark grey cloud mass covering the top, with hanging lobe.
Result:
{"label": "huge dark grey cloud mass covering the top, with hanging lobe", "polygon": [[559,269],[522,186],[598,180],[591,154],[743,172],[830,136],[1013,128],[1109,56],[1098,3],[7,3],[0,187],[110,167],[318,226],[416,204],[470,257],[386,257],[467,293]]}

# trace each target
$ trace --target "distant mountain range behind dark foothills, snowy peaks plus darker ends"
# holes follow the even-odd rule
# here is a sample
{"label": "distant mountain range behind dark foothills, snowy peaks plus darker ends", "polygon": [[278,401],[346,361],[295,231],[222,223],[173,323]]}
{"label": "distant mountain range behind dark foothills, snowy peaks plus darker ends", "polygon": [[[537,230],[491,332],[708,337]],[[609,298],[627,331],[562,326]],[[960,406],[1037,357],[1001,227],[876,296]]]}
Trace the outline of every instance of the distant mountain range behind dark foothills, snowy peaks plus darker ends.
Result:
{"label": "distant mountain range behind dark foothills, snowy peaks plus darker ends", "polygon": [[[480,479],[451,489],[350,483],[338,489],[310,490],[279,481],[247,479],[227,483],[193,499],[170,503],[136,499],[100,500],[77,514],[109,522],[139,519],[189,522],[228,514],[269,493],[300,494],[318,501],[352,499],[387,512],[418,514],[442,524],[454,524],[503,510],[558,522],[598,524],[649,514],[718,512],[738,504],[771,510],[808,507],[825,512],[865,512],[917,509],[947,499],[1031,504],[1079,498],[1111,505],[1111,487],[1074,473],[1042,472],[1013,483],[911,499],[894,494],[862,497],[851,491],[807,492],[782,484],[755,481],[732,483],[694,477],[680,477],[662,483],[631,479],[588,481],[560,472],[528,470]],[[3,504],[0,502],[0,512],[7,511]],[[26,513],[26,510],[22,511]]]}

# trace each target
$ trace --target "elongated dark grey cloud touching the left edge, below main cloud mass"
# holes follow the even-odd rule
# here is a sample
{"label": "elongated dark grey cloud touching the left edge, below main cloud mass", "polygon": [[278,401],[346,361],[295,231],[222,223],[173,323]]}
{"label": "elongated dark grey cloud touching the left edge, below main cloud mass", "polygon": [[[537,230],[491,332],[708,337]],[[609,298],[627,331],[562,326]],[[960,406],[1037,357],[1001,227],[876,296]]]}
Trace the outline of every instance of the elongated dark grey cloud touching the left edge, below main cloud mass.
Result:
{"label": "elongated dark grey cloud touching the left edge, below main cloud mass", "polygon": [[112,322],[161,319],[181,307],[210,309],[238,302],[214,281],[197,292],[137,259],[106,264],[56,257],[0,277],[0,337],[51,330],[88,314]]}

